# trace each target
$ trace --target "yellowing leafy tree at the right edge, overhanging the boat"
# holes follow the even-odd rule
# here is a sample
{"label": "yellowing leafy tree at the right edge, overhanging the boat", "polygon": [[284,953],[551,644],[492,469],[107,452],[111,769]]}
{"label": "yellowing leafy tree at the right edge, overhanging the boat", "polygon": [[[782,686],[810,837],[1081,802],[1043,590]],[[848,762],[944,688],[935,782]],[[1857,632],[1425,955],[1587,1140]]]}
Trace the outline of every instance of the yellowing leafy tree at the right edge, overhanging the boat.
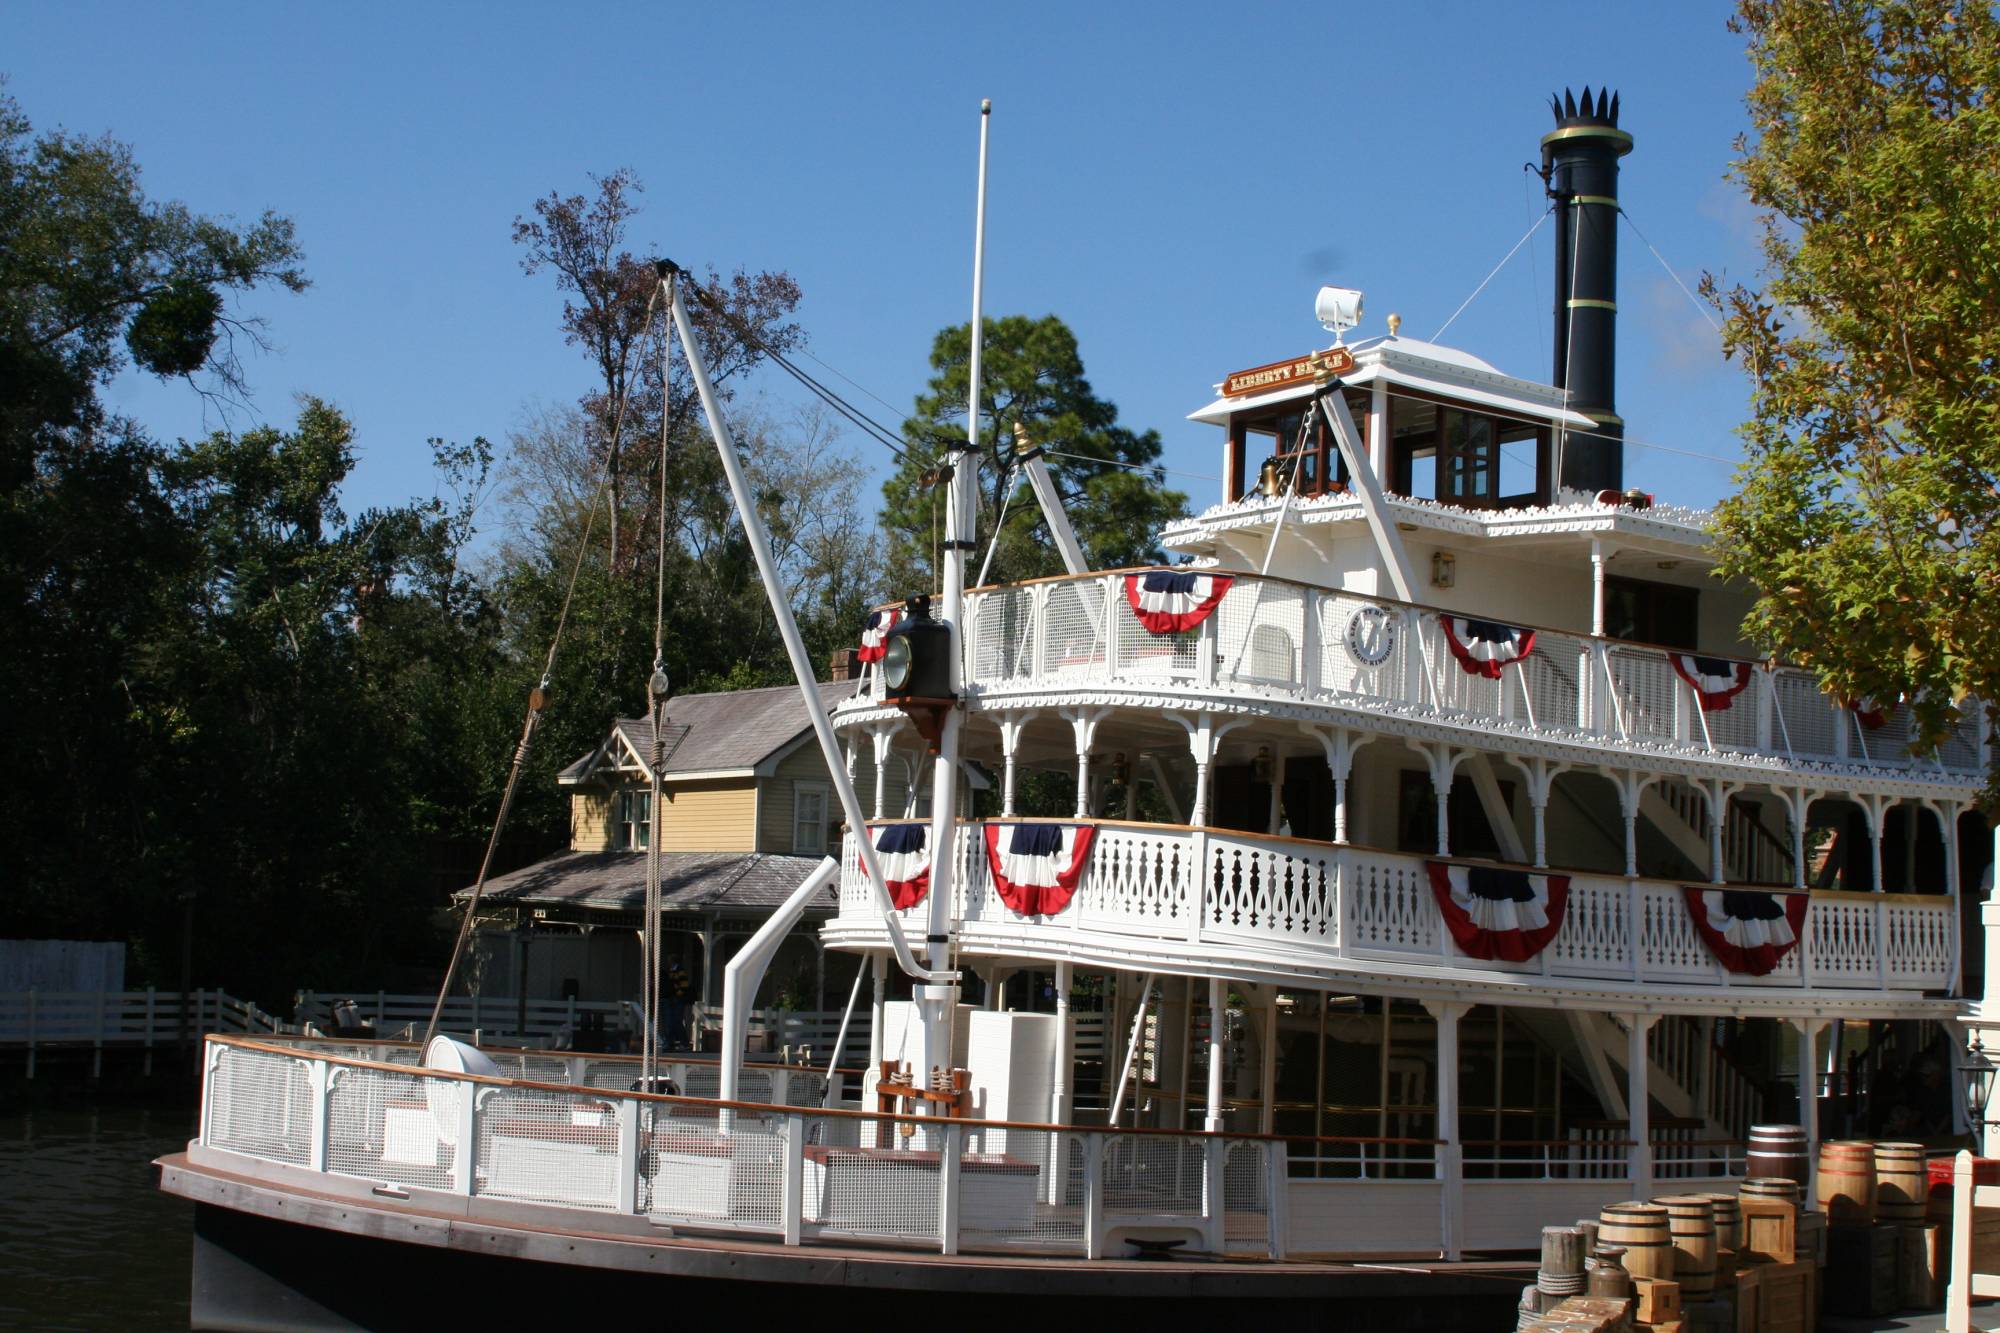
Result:
{"label": "yellowing leafy tree at the right edge, overhanging the boat", "polygon": [[1722,572],[1746,630],[1922,743],[2000,701],[2000,22],[1982,2],[1742,0],[1736,174],[1764,286],[1708,292],[1754,390]]}

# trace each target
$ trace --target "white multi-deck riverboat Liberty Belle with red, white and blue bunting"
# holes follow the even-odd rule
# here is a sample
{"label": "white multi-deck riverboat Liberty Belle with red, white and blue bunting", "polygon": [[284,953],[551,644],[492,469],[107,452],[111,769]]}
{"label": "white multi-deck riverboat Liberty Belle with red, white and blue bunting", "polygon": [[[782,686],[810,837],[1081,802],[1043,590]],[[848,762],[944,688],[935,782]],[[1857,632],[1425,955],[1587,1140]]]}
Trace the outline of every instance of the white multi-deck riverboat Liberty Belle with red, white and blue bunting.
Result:
{"label": "white multi-deck riverboat Liberty Belle with red, white and blue bunting", "polygon": [[[1542,140],[1552,382],[1394,318],[1346,342],[1328,288],[1334,346],[1190,412],[1224,492],[1160,534],[1180,562],[1082,568],[1046,504],[1066,574],[964,590],[954,528],[936,608],[872,618],[862,689],[814,709],[878,805],[844,785],[808,881],[872,961],[858,1077],[668,1059],[654,1095],[604,1055],[210,1037],[164,1161],[196,1323],[400,1323],[368,1263],[516,1317],[752,1281],[966,1327],[1500,1327],[1520,1279],[1472,1257],[1726,1189],[1754,1121],[1964,1133],[1992,739],[1968,709],[1912,751],[1906,707],[1760,660],[1706,514],[1624,486],[1630,148],[1588,92]],[[882,809],[902,763],[936,783]],[[1410,1299],[1428,1323],[1384,1313]]]}

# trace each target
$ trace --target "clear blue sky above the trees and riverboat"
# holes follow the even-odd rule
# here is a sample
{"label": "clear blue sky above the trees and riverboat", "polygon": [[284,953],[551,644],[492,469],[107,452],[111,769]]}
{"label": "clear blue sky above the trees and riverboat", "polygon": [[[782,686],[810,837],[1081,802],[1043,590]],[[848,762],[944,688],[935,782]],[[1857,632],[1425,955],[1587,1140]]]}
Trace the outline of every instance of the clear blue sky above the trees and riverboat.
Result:
{"label": "clear blue sky above the trees and riverboat", "polygon": [[[588,384],[508,228],[618,166],[648,186],[642,250],[790,270],[812,354],[898,422],[932,334],[970,310],[980,98],[988,314],[1066,318],[1098,392],[1162,432],[1206,504],[1220,436],[1182,418],[1210,386],[1322,346],[1322,282],[1366,290],[1360,334],[1394,310],[1430,336],[1544,206],[1522,164],[1546,96],[1608,82],[1638,140],[1618,406],[1632,440],[1666,446],[1628,448],[1626,476],[1708,504],[1744,380],[1640,232],[1690,286],[1756,272],[1726,180],[1750,74],[1726,18],[1712,0],[12,4],[0,72],[38,128],[130,142],[154,196],[296,220],[314,286],[252,302],[276,348],[234,424],[284,420],[300,392],[336,402],[360,442],[350,508],[430,494],[426,436],[498,442]],[[1548,378],[1550,232],[1446,342]],[[180,386],[116,398],[162,436],[218,424]]]}

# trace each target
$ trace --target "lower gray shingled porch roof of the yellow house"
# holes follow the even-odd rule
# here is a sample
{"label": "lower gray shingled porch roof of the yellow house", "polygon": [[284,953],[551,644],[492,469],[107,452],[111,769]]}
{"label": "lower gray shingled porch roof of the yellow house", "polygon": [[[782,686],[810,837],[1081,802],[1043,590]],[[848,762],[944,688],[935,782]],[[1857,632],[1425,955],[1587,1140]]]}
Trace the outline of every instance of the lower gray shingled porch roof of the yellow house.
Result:
{"label": "lower gray shingled porch roof of the yellow house", "polygon": [[[772,853],[660,853],[662,905],[670,913],[770,913],[806,883],[818,857]],[[454,897],[464,899],[470,889]],[[484,903],[536,907],[592,907],[636,913],[646,907],[646,855],[558,853],[530,867],[486,881]],[[838,905],[826,885],[806,907],[808,917],[830,917]]]}

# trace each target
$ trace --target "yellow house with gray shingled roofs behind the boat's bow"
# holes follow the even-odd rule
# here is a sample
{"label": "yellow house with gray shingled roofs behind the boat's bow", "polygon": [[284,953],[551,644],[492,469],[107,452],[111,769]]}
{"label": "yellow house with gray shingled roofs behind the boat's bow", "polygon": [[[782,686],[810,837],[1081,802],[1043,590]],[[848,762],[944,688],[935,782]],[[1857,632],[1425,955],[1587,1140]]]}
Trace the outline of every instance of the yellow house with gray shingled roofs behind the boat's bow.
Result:
{"label": "yellow house with gray shingled roofs behind the boat's bow", "polygon": [[[832,709],[860,687],[818,687]],[[868,811],[906,811],[914,755],[856,757]],[[500,875],[482,899],[482,981],[494,995],[620,1001],[640,993],[640,925],[652,821],[648,719],[618,719],[556,781],[570,793],[570,847]],[[680,695],[660,737],[662,941],[696,1003],[714,1003],[722,965],[842,837],[826,761],[796,687]],[[876,785],[880,783],[880,801]],[[772,961],[764,1003],[822,1009],[846,995],[854,963],[820,949],[834,889],[806,911]]]}

